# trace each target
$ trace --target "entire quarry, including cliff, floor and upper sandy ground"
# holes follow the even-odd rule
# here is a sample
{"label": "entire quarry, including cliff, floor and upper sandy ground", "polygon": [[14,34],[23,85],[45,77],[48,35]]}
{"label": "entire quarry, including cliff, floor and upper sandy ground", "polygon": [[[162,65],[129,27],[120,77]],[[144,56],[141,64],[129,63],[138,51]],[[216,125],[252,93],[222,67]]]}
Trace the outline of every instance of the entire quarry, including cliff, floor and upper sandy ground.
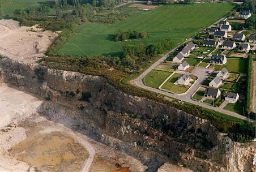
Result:
{"label": "entire quarry, including cliff, floor and upper sandy ground", "polygon": [[[10,23],[0,20],[0,171],[255,171],[255,143],[101,76],[41,66],[56,33]],[[12,34],[19,45],[2,41]],[[171,123],[175,137],[147,119]]]}

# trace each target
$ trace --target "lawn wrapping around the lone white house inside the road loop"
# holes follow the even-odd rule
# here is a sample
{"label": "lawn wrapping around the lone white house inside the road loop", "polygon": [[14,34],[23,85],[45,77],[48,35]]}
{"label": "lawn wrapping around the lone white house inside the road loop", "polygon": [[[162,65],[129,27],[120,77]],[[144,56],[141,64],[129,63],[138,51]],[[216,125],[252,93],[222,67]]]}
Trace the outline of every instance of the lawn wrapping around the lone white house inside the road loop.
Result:
{"label": "lawn wrapping around the lone white house inside the road loop", "polygon": [[182,74],[173,74],[172,77],[161,87],[163,89],[167,89],[170,92],[181,94],[185,93],[189,87],[174,85],[174,83],[180,78]]}

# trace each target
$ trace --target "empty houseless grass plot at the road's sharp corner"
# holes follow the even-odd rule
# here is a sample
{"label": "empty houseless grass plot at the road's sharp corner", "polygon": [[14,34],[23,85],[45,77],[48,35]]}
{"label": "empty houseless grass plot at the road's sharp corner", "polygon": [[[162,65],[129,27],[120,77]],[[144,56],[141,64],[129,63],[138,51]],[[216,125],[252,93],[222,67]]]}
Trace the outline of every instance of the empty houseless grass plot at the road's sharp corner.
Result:
{"label": "empty houseless grass plot at the road's sharp corner", "polygon": [[148,87],[158,88],[165,79],[170,76],[170,72],[152,70],[143,79],[143,83]]}

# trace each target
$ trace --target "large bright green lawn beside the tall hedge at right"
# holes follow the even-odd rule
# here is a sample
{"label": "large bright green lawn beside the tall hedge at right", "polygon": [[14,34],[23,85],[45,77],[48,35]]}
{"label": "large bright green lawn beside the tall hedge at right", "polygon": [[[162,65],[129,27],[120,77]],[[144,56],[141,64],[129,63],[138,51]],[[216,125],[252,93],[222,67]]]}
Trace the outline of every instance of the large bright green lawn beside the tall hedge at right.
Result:
{"label": "large bright green lawn beside the tall hedge at right", "polygon": [[229,72],[246,73],[247,62],[244,58],[227,58],[225,65],[212,65],[216,70],[225,67]]}

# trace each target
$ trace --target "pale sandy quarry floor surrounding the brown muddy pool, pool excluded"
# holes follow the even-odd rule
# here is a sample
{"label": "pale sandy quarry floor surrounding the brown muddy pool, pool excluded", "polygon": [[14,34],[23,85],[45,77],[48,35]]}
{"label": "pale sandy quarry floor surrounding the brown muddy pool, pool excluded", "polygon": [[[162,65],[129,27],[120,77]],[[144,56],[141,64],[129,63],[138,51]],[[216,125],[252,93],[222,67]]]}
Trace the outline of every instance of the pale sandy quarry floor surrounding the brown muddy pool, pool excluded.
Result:
{"label": "pale sandy quarry floor surrounding the brown muddy pool, pool excluded", "polygon": [[[33,165],[17,160],[19,154],[24,152],[16,150],[27,150],[22,147],[22,144],[18,143],[24,143],[24,141],[26,143],[31,137],[53,132],[59,132],[72,137],[72,139],[78,141],[78,143],[86,148],[89,153],[89,157],[83,160],[83,166],[74,165],[75,169],[69,171],[120,171],[116,164],[122,167],[129,167],[132,172],[142,172],[147,169],[146,166],[134,157],[92,140],[90,137],[86,136],[86,134],[81,134],[84,130],[79,132],[74,131],[67,127],[69,124],[64,126],[63,124],[49,121],[44,116],[37,113],[37,109],[41,103],[42,101],[30,94],[17,91],[7,87],[5,84],[0,85],[0,129],[2,129],[0,130],[0,171],[35,171]],[[46,152],[50,151],[48,147],[49,146],[45,145]],[[62,150],[60,149],[60,151]],[[65,149],[63,149],[63,151],[65,152]],[[36,158],[36,156],[34,158]],[[67,163],[65,162],[65,158],[57,158],[61,158],[61,161]],[[67,159],[70,159],[70,157],[67,157]],[[58,162],[56,159],[52,161]],[[44,170],[42,166],[37,167],[39,169],[43,168]],[[62,170],[65,171],[65,169]]]}

